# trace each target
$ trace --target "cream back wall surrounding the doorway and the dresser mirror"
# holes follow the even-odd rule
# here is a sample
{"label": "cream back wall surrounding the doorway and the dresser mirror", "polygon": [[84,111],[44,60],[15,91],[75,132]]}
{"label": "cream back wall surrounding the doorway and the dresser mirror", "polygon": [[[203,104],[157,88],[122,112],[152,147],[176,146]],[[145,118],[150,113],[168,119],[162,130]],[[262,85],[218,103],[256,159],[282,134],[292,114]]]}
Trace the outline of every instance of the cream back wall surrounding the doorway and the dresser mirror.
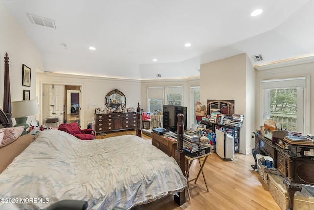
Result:
{"label": "cream back wall surrounding the doorway and the dresser mirror", "polygon": [[[102,77],[78,76],[57,73],[37,74],[37,94],[42,101],[43,84],[63,84],[82,86],[81,92],[81,128],[87,128],[88,122],[94,117],[95,108],[105,109],[105,96],[117,88],[126,96],[126,107],[137,107],[141,99],[141,84],[139,80],[113,79]],[[96,104],[96,105],[92,105]],[[40,104],[42,110],[42,104]],[[40,123],[43,122],[40,116]]]}

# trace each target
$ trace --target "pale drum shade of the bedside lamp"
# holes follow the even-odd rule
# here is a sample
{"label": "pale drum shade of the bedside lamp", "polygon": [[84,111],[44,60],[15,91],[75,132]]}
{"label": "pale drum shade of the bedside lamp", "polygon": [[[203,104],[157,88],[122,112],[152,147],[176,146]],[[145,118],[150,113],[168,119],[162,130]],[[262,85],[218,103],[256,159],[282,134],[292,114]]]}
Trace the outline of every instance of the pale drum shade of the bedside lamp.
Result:
{"label": "pale drum shade of the bedside lamp", "polygon": [[39,114],[36,99],[12,102],[12,117],[25,117],[35,114]]}

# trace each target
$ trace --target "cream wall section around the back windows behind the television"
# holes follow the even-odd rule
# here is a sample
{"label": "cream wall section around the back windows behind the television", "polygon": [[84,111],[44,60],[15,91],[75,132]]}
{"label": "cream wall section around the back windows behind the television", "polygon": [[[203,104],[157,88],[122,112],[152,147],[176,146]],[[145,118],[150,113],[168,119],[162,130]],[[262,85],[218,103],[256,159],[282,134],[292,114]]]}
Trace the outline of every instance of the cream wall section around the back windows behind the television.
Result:
{"label": "cream wall section around the back windows behind the television", "polygon": [[[187,128],[191,128],[191,120],[189,119],[190,109],[190,92],[191,87],[200,86],[200,78],[189,78],[189,79],[155,79],[155,80],[143,80],[141,82],[141,108],[147,111],[147,87],[165,87],[166,86],[183,86],[183,101],[182,105],[187,107]],[[194,110],[193,110],[194,111]]]}

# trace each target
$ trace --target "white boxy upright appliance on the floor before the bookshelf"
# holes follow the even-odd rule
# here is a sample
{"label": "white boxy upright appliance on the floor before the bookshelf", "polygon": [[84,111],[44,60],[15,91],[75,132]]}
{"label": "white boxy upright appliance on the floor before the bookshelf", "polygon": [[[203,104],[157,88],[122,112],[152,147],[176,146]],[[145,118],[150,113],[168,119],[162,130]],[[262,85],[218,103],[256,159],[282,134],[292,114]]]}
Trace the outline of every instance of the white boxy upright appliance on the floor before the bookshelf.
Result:
{"label": "white boxy upright appliance on the floor before the bookshelf", "polygon": [[219,129],[216,129],[216,153],[222,159],[234,158],[234,137]]}

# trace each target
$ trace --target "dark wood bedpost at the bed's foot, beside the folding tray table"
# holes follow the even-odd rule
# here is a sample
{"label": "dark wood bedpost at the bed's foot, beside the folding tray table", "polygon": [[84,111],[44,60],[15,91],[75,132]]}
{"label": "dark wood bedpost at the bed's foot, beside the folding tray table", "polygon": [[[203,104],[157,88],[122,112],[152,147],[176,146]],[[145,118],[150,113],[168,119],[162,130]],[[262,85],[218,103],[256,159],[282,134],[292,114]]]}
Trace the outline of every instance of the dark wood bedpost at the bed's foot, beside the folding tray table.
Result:
{"label": "dark wood bedpost at the bed's foot, beside the folding tray table", "polygon": [[[184,121],[183,121],[183,114],[178,114],[178,122],[177,122],[177,145],[178,145],[178,152],[180,157],[179,166],[182,170],[183,175],[185,175],[185,154],[183,152],[183,135],[184,135]],[[175,195],[174,198],[175,202],[181,206],[185,203],[185,189],[182,192],[179,192]]]}

